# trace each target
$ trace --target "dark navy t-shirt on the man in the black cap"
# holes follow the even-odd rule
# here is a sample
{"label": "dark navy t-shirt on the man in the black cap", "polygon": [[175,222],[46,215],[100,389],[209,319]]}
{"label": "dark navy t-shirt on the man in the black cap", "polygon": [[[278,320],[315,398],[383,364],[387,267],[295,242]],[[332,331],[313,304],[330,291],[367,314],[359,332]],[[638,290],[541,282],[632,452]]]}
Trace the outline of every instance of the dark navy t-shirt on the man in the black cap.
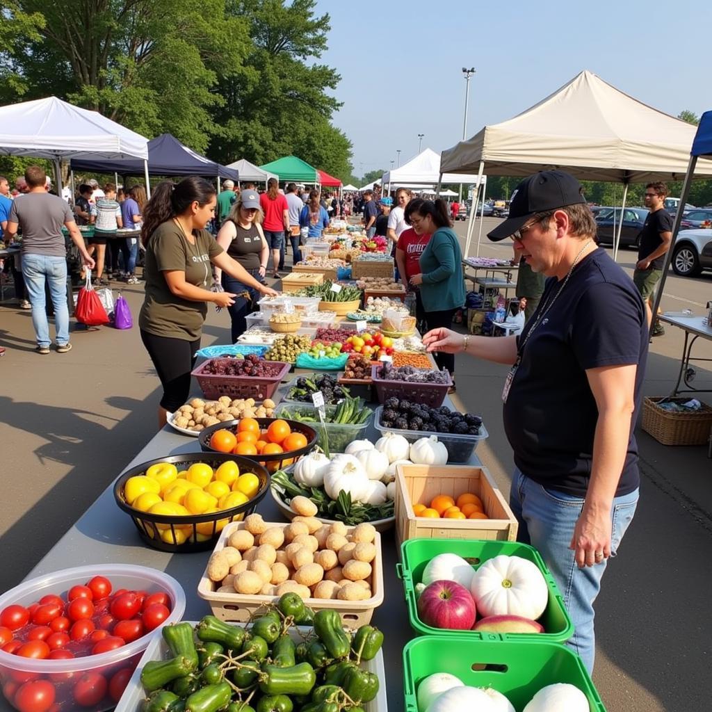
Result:
{"label": "dark navy t-shirt on the man in the black cap", "polygon": [[[521,345],[537,316],[560,290],[549,279],[535,315],[518,339]],[[598,411],[586,370],[637,364],[635,411],[616,496],[639,484],[633,426],[640,409],[648,352],[643,302],[631,278],[599,248],[578,264],[523,348],[504,404],[504,426],[516,466],[541,485],[583,497],[593,459]]]}

